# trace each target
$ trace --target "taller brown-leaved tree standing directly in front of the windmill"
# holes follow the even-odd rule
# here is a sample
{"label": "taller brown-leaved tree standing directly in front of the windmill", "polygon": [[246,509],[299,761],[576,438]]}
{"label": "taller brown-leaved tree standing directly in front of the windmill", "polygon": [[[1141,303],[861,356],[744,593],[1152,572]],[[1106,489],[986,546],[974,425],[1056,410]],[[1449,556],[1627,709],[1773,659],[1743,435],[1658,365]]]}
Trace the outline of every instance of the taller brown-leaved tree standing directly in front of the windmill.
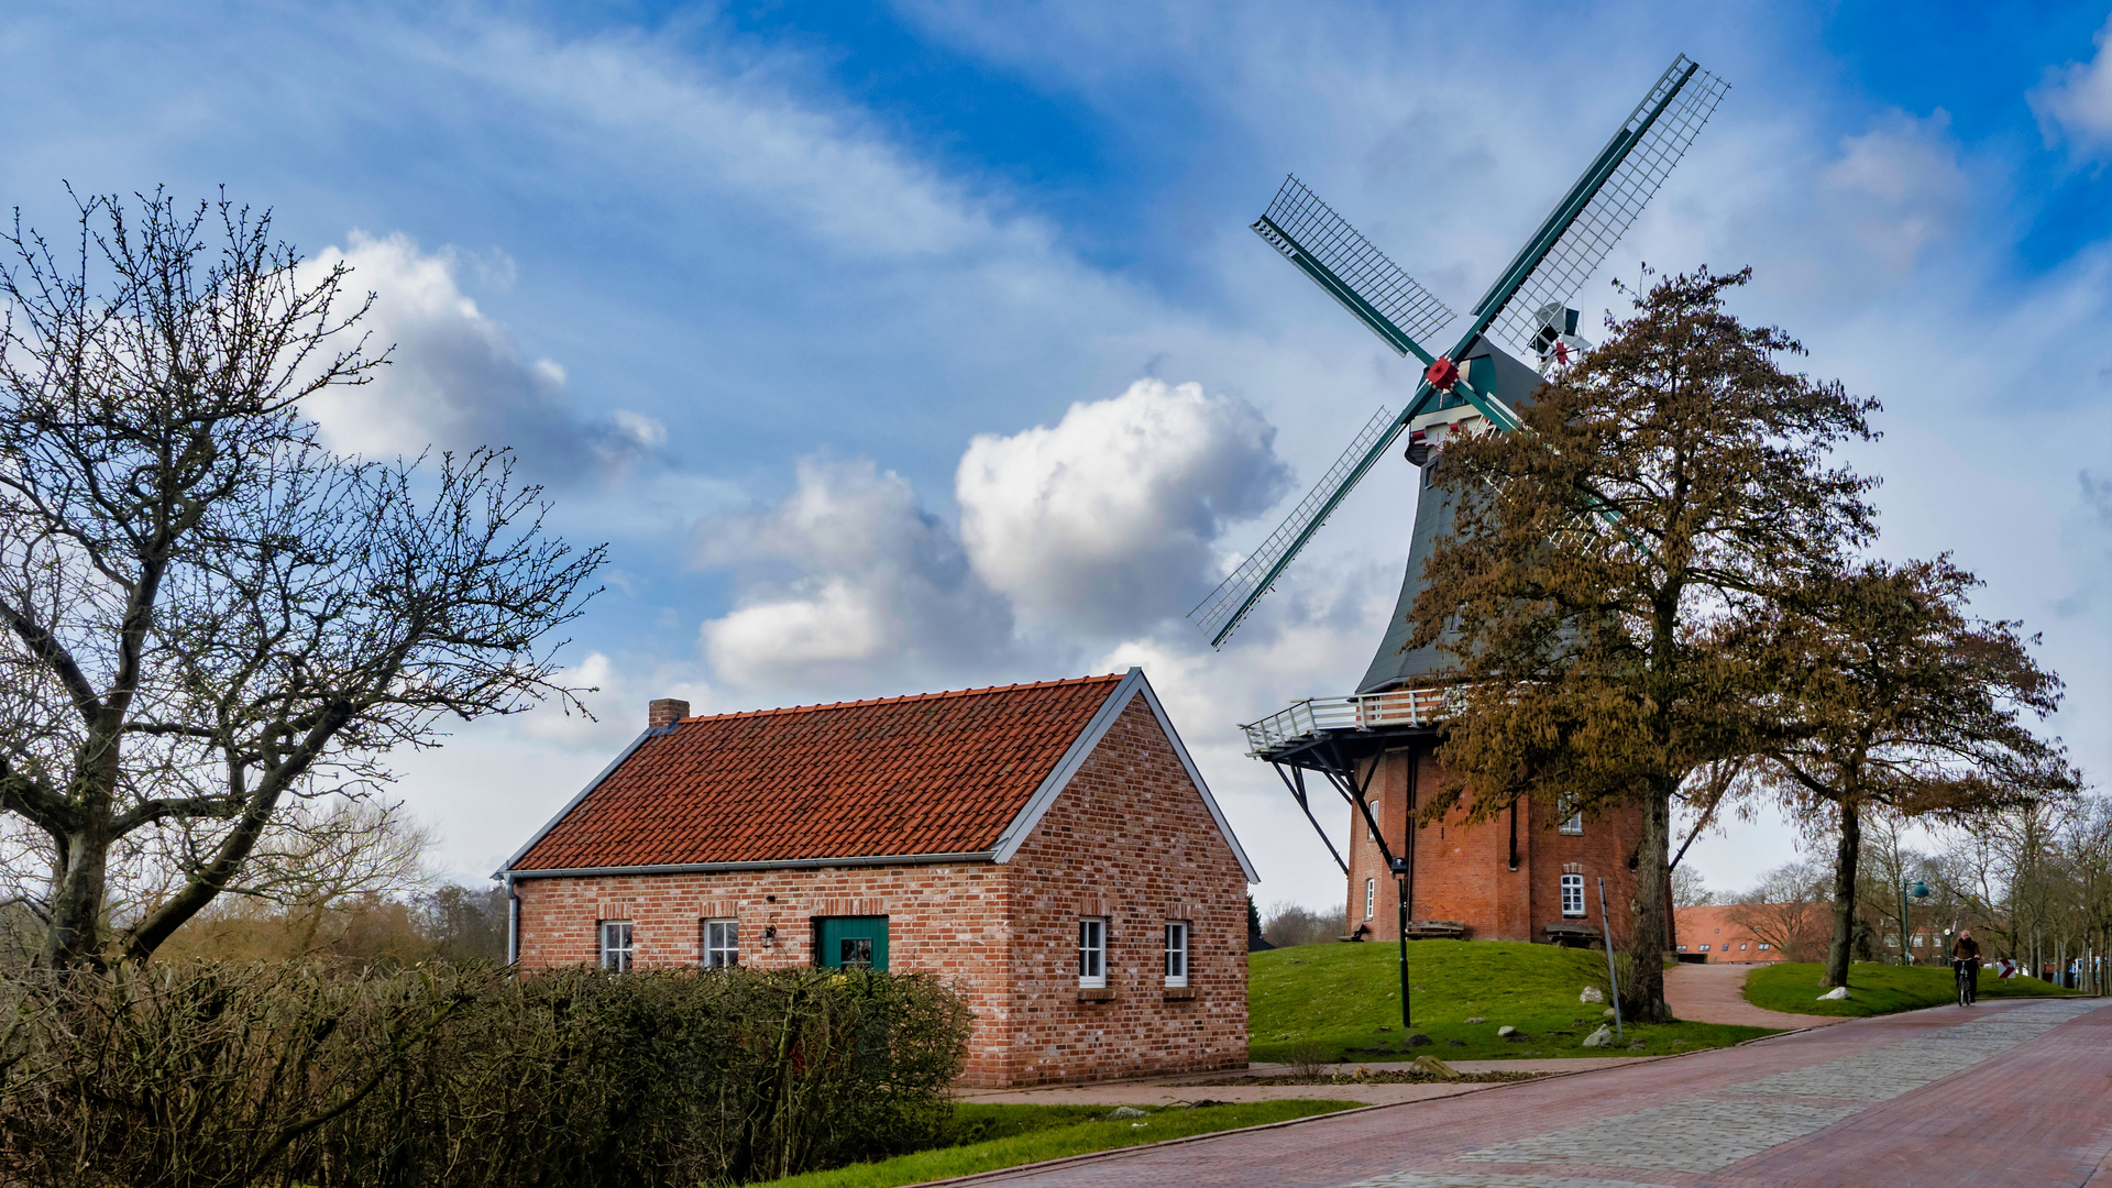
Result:
{"label": "taller brown-leaved tree standing directly in front of the windmill", "polygon": [[1438,753],[1459,782],[1430,812],[1641,808],[1633,1019],[1668,1017],[1673,797],[1768,725],[1772,674],[1734,636],[1873,531],[1871,480],[1831,450],[1871,438],[1878,404],[1783,370],[1802,347],[1723,309],[1749,277],[1660,279],[1519,410],[1523,431],[1449,444],[1457,520],[1411,611],[1411,647],[1440,643],[1462,687]]}

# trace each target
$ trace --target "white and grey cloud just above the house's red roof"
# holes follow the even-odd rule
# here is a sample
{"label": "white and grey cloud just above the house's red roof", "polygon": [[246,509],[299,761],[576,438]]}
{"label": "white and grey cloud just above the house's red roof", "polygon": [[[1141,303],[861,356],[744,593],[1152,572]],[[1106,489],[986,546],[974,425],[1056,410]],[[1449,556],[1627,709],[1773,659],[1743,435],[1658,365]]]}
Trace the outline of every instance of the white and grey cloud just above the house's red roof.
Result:
{"label": "white and grey cloud just above the house's red roof", "polygon": [[701,638],[735,685],[855,687],[881,670],[900,683],[1010,651],[1012,611],[953,531],[908,480],[864,459],[800,459],[798,488],[777,507],[705,520],[697,562],[741,575],[733,611]]}

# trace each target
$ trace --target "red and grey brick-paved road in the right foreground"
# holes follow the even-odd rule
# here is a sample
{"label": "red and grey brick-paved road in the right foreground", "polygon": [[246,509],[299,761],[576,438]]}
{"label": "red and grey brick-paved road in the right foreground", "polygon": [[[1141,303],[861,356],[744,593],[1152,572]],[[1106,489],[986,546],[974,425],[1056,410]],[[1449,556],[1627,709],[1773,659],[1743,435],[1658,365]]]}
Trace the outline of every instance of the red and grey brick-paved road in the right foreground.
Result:
{"label": "red and grey brick-paved road in the right foreground", "polygon": [[2112,1004],[2025,1000],[1852,1019],[978,1184],[2112,1188],[2108,1152]]}

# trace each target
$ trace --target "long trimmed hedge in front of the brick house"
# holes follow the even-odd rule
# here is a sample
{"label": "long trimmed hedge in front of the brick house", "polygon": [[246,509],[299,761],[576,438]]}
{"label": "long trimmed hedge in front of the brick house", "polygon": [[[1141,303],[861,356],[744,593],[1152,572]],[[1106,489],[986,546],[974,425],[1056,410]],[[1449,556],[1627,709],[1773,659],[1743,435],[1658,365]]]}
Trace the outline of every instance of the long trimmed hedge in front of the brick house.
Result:
{"label": "long trimmed hedge in front of the brick house", "polygon": [[17,974],[0,1182],[555,1188],[769,1180],[929,1146],[969,1017],[919,974]]}

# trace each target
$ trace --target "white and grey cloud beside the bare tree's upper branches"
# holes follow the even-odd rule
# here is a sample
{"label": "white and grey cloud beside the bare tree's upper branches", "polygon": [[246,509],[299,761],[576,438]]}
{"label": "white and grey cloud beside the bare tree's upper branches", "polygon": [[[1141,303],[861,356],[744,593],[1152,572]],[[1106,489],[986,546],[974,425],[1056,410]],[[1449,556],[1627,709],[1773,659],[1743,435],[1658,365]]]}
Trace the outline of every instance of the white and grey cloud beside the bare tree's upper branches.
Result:
{"label": "white and grey cloud beside the bare tree's upper branches", "polygon": [[619,478],[667,440],[665,427],[631,410],[581,416],[564,368],[528,359],[498,321],[458,283],[454,252],[420,252],[397,233],[355,230],[348,247],[325,247],[306,268],[351,266],[351,290],[374,292],[363,323],[376,347],[393,347],[365,387],[319,393],[313,414],[325,440],[359,454],[414,454],[429,446],[511,446],[539,482]]}

